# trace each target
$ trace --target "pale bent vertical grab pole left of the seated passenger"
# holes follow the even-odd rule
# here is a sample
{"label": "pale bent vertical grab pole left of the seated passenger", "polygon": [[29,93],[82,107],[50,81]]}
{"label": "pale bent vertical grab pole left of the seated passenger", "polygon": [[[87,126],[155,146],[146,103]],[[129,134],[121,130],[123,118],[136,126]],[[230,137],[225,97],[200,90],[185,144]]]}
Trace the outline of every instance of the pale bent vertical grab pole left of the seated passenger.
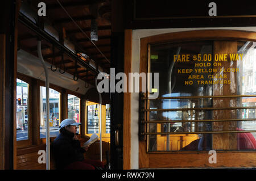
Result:
{"label": "pale bent vertical grab pole left of the seated passenger", "polygon": [[41,51],[41,41],[38,40],[38,56],[43,65],[44,73],[46,74],[46,169],[50,170],[50,145],[49,145],[49,75],[44,62],[42,51]]}

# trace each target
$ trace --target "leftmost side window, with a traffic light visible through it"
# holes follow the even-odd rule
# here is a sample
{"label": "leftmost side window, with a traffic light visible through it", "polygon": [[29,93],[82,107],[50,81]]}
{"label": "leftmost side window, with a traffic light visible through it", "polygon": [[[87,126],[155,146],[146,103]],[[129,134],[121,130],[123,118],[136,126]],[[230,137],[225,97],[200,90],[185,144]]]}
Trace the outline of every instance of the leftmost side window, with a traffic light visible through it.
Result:
{"label": "leftmost side window, with a traffic light visible through it", "polygon": [[16,79],[16,140],[28,140],[28,83]]}

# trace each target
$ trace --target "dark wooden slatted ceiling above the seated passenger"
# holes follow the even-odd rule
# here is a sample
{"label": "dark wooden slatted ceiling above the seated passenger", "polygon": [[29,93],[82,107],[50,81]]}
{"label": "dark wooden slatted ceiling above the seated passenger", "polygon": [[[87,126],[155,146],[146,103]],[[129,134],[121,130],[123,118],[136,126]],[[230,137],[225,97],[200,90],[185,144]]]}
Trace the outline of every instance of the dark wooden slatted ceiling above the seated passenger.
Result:
{"label": "dark wooden slatted ceiling above the seated passenger", "polygon": [[[46,3],[46,16],[40,17],[40,22],[48,22],[59,33],[59,39],[66,39],[75,46],[77,53],[86,54],[81,57],[82,61],[89,64],[89,61],[96,63],[106,73],[110,70],[110,40],[111,40],[111,2],[110,0],[59,0],[64,9],[71,15],[77,25],[68,16],[67,12],[59,5],[57,0],[33,0],[23,1],[35,12],[38,11],[38,3]],[[91,22],[95,19],[98,29],[98,41],[90,41]],[[86,33],[86,35],[84,34]],[[88,38],[89,37],[89,38]],[[38,34],[30,30],[23,23],[18,24],[18,47],[27,52],[37,55]],[[63,44],[63,41],[62,41]],[[56,48],[51,41],[42,39],[42,54],[45,61],[53,64],[53,70],[61,68],[72,75],[78,74],[78,77],[85,82],[94,84],[95,71],[87,69],[85,66],[77,66],[76,61],[70,56]],[[88,57],[87,57],[88,56]]]}

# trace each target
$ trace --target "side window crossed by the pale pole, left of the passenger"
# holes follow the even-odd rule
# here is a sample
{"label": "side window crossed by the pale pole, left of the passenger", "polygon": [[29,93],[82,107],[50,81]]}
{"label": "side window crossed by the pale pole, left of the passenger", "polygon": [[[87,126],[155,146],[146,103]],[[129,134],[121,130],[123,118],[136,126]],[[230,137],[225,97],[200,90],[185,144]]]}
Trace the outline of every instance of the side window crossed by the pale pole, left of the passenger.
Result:
{"label": "side window crossed by the pale pole, left of the passenger", "polygon": [[[50,137],[59,134],[60,92],[49,89],[49,133]],[[40,138],[46,138],[46,87],[40,86]]]}

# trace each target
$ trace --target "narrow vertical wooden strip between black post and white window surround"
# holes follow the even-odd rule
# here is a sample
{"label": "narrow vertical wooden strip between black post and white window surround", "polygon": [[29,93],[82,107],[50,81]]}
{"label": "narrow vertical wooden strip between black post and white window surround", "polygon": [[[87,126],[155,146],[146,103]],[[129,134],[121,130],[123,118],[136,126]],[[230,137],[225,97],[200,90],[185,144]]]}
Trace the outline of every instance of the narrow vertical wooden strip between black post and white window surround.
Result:
{"label": "narrow vertical wooden strip between black post and white window surround", "polygon": [[[125,30],[125,57],[124,71],[126,75],[131,72],[131,51],[133,43],[133,31]],[[127,81],[127,92],[123,93],[123,169],[131,168],[131,93],[128,92],[129,81]]]}

